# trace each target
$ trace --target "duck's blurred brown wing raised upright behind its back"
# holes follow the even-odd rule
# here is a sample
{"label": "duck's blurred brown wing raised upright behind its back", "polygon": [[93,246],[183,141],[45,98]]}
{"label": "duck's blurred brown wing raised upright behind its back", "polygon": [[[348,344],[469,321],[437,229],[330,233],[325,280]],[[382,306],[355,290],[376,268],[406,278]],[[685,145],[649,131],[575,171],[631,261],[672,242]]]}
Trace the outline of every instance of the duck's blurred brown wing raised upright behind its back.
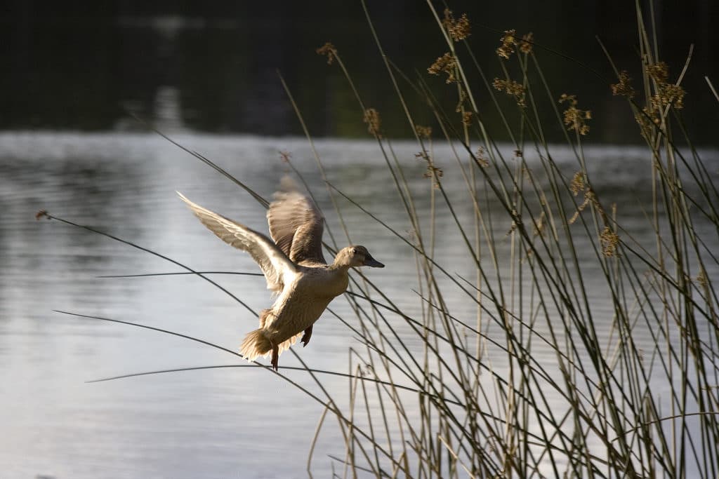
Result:
{"label": "duck's blurred brown wing raised upright behind its back", "polygon": [[322,256],[324,217],[311,198],[298,192],[290,177],[282,180],[282,190],[267,210],[270,236],[297,264],[326,264]]}

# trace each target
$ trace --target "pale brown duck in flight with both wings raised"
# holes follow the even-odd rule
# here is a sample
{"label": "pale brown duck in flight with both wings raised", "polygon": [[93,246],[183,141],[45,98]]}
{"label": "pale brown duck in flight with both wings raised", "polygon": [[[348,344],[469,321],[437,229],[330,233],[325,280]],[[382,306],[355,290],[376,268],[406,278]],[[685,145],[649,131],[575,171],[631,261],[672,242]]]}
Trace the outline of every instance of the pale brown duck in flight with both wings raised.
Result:
{"label": "pale brown duck in flight with both wings raised", "polygon": [[298,338],[308,345],[314,323],[332,299],[347,290],[350,268],[385,267],[359,245],[342,248],[328,264],[322,254],[324,216],[290,177],[281,180],[267,209],[270,238],[177,193],[212,233],[249,253],[260,266],[275,301],[260,312],[260,327],[247,333],[239,352],[248,361],[270,355],[274,371],[280,353]]}

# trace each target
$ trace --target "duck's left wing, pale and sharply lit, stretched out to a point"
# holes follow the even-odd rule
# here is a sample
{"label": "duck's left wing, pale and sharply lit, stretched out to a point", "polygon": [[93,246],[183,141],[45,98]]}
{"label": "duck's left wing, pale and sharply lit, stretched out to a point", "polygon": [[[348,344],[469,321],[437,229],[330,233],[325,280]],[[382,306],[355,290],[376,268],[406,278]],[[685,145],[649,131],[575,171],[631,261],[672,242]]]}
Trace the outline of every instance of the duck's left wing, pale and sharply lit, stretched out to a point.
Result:
{"label": "duck's left wing, pale and sharply lit, stretched out to a point", "polygon": [[241,223],[202,208],[200,205],[188,200],[182,193],[177,193],[210,231],[225,243],[242,251],[247,251],[252,256],[252,259],[262,269],[262,273],[265,274],[267,289],[279,293],[284,287],[287,275],[293,275],[297,272],[297,267],[293,262],[267,236],[257,233],[257,231],[253,231]]}

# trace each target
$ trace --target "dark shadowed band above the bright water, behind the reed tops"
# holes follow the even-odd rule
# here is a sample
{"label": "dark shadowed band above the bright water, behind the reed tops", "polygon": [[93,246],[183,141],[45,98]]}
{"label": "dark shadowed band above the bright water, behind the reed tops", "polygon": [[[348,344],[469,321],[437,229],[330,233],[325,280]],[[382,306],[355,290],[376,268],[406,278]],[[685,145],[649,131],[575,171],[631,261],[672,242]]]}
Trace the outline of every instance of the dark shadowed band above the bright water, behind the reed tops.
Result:
{"label": "dark shadowed band above the bright water, behind the reed tops", "polygon": [[[502,32],[531,31],[555,96],[577,94],[580,108],[592,111],[589,141],[641,141],[626,102],[611,95],[608,83],[615,78],[595,39],[602,39],[618,68],[640,78],[633,1],[453,1],[450,6],[457,15],[469,15],[469,42],[490,81],[501,71],[495,49]],[[454,89],[426,73],[446,51],[426,3],[369,0],[367,7],[388,56],[411,78],[421,75],[449,101]],[[436,8],[441,11],[442,6]],[[684,120],[699,143],[715,144],[719,118],[704,77],[719,85],[714,53],[719,37],[712,34],[719,4],[659,0],[654,9],[660,57],[669,63],[672,80],[690,44],[695,45],[682,83],[688,92]],[[649,16],[648,6],[645,11]],[[0,129],[137,129],[127,115],[134,111],[168,128],[302,134],[279,70],[314,136],[366,136],[362,113],[341,71],[315,52],[327,41],[339,50],[367,106],[382,113],[387,134],[409,136],[362,4],[329,0],[10,1],[0,18],[5,67],[0,75]],[[508,65],[518,73],[516,61]],[[475,95],[485,124],[496,139],[505,139],[500,129],[493,131],[498,116],[482,80],[474,68],[467,70],[476,77]],[[409,88],[406,92],[417,121],[431,124],[421,98]],[[503,107],[515,113],[509,101]],[[551,118],[549,105],[544,110]],[[549,134],[562,139],[559,126]]]}

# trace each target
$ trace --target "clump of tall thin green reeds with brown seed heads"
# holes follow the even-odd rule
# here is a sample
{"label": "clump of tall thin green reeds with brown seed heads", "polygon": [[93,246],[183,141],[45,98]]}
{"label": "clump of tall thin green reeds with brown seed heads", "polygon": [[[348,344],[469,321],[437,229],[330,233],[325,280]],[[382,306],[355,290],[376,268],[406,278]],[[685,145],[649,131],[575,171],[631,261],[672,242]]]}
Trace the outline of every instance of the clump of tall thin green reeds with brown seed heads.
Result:
{"label": "clump of tall thin green reeds with brown seed heads", "polygon": [[[496,50],[503,77],[490,79],[473,54],[470,19],[429,8],[446,52],[427,72],[456,91],[449,107],[436,100],[426,75],[408,78],[387,59],[367,14],[400,114],[415,134],[416,158],[426,163],[429,218],[415,207],[406,160],[383,135],[380,115],[390,113],[365,104],[338,48],[318,50],[352,85],[411,239],[334,186],[329,194],[365,211],[413,253],[419,311],[398,307],[364,276],[352,284],[347,299],[356,314],[344,319],[360,343],[350,355],[352,394],[344,406],[326,399],[345,441],[344,457],[335,458],[344,475],[717,477],[719,262],[712,248],[719,195],[682,122],[686,65],[679,75],[669,72],[639,7],[642,77],[633,81],[607,54],[615,72],[607,95],[626,99],[646,144],[652,208],[644,218],[654,241],[641,243],[632,236],[636,224],[619,219],[633,205],[616,205],[592,185],[584,146],[592,113],[574,94],[551,89],[533,35],[504,32]],[[468,80],[469,70],[479,85]],[[475,101],[480,90],[493,98],[513,153],[487,133]],[[408,95],[423,98],[439,131],[416,124]],[[554,161],[546,141],[546,129],[556,126],[539,121],[542,98],[554,105],[573,152],[569,169]],[[508,108],[518,121],[505,115]],[[462,205],[458,192],[444,187],[432,148],[438,138],[453,146]],[[529,152],[536,161],[526,161]],[[487,207],[490,197],[499,208]],[[456,213],[467,204],[469,222]],[[454,222],[454,231],[441,235],[461,238],[471,278],[436,259],[440,209]],[[508,232],[497,231],[507,224]],[[457,297],[472,305],[470,317],[454,314]],[[597,330],[598,322],[609,330]]]}

